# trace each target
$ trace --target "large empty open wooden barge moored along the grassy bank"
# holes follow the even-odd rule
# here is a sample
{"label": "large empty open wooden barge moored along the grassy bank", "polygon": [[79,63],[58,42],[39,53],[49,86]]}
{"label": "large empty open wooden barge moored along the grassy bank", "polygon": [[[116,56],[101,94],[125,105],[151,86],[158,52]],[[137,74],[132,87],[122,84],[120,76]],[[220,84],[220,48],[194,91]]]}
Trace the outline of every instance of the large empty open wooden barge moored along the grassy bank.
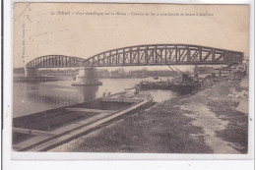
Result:
{"label": "large empty open wooden barge moored along the grassy bank", "polygon": [[13,148],[16,151],[47,151],[153,104],[152,98],[136,94],[127,97],[126,92],[120,92],[16,117],[13,119]]}

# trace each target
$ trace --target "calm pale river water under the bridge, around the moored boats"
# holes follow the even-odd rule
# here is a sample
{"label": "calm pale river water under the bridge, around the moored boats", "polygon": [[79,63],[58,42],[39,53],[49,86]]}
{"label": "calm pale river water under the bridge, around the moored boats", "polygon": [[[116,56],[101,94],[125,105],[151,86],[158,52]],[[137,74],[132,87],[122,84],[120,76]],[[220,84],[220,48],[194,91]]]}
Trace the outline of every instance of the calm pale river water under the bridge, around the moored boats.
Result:
{"label": "calm pale river water under the bridge, around the moored boats", "polygon": [[[160,78],[162,81],[167,78]],[[29,115],[52,108],[89,101],[101,97],[103,92],[119,92],[146,79],[100,79],[102,85],[72,86],[72,81],[47,83],[14,83],[13,117]],[[170,90],[149,90],[154,100],[161,102],[177,96]]]}

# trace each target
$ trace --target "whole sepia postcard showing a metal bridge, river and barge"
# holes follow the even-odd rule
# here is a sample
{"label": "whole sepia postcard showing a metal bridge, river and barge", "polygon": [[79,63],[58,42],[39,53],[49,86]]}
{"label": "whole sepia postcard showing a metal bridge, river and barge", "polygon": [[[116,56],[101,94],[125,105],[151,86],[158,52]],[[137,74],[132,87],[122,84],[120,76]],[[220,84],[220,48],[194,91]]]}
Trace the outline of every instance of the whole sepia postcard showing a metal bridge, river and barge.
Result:
{"label": "whole sepia postcard showing a metal bridge, river and barge", "polygon": [[252,154],[249,5],[13,10],[14,153]]}

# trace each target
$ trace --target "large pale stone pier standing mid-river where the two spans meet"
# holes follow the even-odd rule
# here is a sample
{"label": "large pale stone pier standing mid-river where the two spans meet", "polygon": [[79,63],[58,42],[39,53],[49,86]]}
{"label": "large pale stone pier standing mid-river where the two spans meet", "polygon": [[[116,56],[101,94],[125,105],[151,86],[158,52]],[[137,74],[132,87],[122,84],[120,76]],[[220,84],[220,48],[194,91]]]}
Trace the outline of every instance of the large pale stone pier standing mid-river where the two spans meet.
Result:
{"label": "large pale stone pier standing mid-river where the two spans meet", "polygon": [[95,68],[83,68],[79,70],[72,85],[101,85],[101,83],[98,82]]}

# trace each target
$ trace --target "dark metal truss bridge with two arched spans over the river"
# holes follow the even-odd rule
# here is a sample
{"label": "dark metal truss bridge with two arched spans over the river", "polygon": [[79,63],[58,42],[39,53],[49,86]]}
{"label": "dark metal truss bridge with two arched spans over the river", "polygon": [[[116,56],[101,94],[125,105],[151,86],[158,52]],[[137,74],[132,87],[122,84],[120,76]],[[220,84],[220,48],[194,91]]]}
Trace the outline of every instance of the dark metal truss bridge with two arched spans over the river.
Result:
{"label": "dark metal truss bridge with two arched spans over the river", "polygon": [[235,65],[243,52],[190,44],[149,44],[101,52],[88,59],[64,55],[38,57],[26,68],[119,67],[156,65]]}

